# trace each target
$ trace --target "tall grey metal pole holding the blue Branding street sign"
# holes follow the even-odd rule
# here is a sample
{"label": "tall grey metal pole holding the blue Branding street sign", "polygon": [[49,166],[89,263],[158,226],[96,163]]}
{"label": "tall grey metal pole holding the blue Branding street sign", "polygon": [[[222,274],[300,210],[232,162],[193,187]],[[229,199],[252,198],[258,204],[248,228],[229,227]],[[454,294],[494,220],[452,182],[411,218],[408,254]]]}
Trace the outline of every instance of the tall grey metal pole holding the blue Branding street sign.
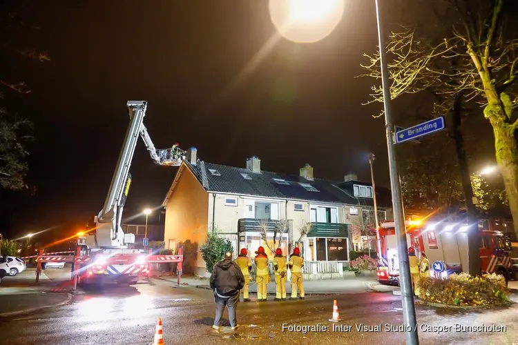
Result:
{"label": "tall grey metal pole holding the blue Branding street sign", "polygon": [[387,131],[387,150],[390,170],[390,189],[392,190],[392,209],[394,210],[394,223],[396,226],[396,237],[398,244],[399,277],[401,285],[401,299],[403,303],[403,321],[408,326],[405,333],[405,339],[407,345],[419,345],[416,311],[414,308],[414,292],[412,291],[410,265],[408,263],[405,217],[403,215],[403,199],[401,197],[401,181],[399,180],[396,150],[394,147],[394,120],[392,119],[392,101],[390,98],[390,83],[387,66],[387,55],[385,53],[385,39],[383,37],[383,28],[381,26],[379,0],[374,1],[376,2],[376,21],[378,23],[381,83],[383,86],[383,106],[385,108],[385,128]]}

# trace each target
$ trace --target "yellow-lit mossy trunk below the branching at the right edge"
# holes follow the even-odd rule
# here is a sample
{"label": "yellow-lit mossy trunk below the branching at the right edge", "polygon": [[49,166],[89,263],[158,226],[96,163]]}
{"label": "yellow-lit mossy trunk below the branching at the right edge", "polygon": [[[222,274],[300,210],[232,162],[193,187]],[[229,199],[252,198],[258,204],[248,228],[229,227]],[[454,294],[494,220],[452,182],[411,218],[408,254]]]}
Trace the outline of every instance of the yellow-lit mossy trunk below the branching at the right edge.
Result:
{"label": "yellow-lit mossy trunk below the branching at the right edge", "polygon": [[515,128],[510,124],[491,121],[495,133],[497,163],[506,186],[515,234],[518,237],[518,144]]}

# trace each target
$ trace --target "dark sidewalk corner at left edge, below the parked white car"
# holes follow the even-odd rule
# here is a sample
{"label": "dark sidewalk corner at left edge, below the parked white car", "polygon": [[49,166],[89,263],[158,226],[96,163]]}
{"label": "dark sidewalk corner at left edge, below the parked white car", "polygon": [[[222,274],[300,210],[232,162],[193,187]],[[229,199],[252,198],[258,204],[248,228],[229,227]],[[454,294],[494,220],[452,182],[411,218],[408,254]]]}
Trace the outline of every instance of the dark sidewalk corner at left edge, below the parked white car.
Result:
{"label": "dark sidewalk corner at left edge, below the parked white car", "polygon": [[14,317],[34,313],[45,308],[64,305],[72,299],[69,293],[52,293],[45,282],[50,279],[41,273],[41,285],[35,285],[35,273],[28,269],[0,282],[0,317]]}

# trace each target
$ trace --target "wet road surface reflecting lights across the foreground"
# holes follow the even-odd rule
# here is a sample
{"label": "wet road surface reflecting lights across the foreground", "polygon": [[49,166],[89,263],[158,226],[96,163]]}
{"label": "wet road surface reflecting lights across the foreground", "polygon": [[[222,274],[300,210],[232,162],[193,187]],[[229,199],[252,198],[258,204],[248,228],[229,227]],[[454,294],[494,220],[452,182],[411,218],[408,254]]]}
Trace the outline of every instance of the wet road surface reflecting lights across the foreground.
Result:
{"label": "wet road surface reflecting lights across the foreground", "polygon": [[[52,275],[55,273],[50,273]],[[349,332],[283,332],[286,326],[332,326],[333,299],[338,300],[340,317]],[[445,312],[417,306],[419,324],[505,325],[506,332],[421,332],[421,344],[509,344],[518,345],[518,307],[497,311]],[[286,302],[248,302],[239,305],[240,328],[213,331],[214,304],[210,290],[173,287],[153,279],[128,288],[108,286],[86,291],[73,303],[36,315],[0,320],[1,344],[152,344],[157,317],[162,317],[165,344],[404,344],[401,332],[356,331],[356,326],[403,323],[399,296],[390,293],[308,296]],[[228,326],[228,323],[227,323]],[[420,326],[421,327],[421,326]]]}

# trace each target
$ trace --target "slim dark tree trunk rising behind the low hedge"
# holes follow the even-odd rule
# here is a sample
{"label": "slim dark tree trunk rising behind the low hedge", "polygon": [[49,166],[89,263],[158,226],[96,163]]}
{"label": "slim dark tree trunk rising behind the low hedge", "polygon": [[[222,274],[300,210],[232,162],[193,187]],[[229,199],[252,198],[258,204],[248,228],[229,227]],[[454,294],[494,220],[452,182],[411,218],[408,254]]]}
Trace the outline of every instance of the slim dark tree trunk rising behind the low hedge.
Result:
{"label": "slim dark tree trunk rising behind the low hedge", "polygon": [[480,239],[477,209],[473,204],[473,189],[471,186],[470,170],[468,168],[468,157],[464,150],[464,138],[461,132],[462,94],[459,93],[454,99],[452,111],[452,128],[450,135],[455,142],[459,170],[461,172],[461,183],[464,199],[466,200],[466,218],[469,225],[468,230],[468,273],[470,275],[480,275]]}

